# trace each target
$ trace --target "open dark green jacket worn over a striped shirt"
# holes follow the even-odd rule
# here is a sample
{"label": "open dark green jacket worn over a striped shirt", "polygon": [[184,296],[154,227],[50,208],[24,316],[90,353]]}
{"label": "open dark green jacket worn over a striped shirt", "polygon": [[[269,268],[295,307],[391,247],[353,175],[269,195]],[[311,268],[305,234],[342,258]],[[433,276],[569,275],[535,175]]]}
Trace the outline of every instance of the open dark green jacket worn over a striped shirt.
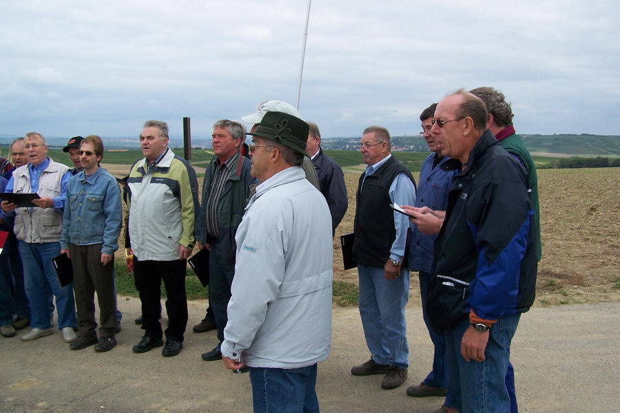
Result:
{"label": "open dark green jacket worn over a striped shirt", "polygon": [[[196,231],[196,239],[202,244],[209,243],[205,214],[207,213],[207,200],[211,191],[211,181],[217,167],[217,157],[214,157],[205,171],[203,182],[203,198],[200,201],[200,224]],[[254,182],[250,175],[252,162],[245,156],[239,156],[236,165],[231,168],[227,181],[224,185],[220,201],[218,202],[218,226],[220,237],[217,240],[217,248],[220,257],[226,264],[234,266],[236,243],[235,234],[241,223],[245,206],[249,199],[249,184]],[[211,240],[212,241],[212,240]]]}

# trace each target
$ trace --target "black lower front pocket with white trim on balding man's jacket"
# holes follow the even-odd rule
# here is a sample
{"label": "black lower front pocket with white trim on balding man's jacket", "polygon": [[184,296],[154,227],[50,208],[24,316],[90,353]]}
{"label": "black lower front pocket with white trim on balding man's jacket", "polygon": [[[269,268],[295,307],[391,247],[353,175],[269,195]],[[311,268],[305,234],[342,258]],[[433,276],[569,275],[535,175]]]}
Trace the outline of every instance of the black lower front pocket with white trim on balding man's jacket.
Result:
{"label": "black lower front pocket with white trim on balding man's jacket", "polygon": [[437,274],[426,299],[426,312],[433,328],[445,330],[455,326],[467,314],[468,296],[468,282]]}

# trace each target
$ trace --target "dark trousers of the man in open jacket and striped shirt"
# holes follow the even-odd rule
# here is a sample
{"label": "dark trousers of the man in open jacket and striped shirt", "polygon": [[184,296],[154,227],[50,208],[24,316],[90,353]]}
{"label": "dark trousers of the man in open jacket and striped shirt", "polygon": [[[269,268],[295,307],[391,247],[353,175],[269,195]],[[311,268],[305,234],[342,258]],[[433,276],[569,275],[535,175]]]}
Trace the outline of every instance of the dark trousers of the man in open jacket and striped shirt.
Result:
{"label": "dark trousers of the man in open jacket and striped shirt", "polygon": [[224,328],[228,322],[228,301],[230,301],[230,286],[235,275],[235,266],[223,262],[218,253],[218,242],[209,242],[209,306],[218,326],[218,340],[224,341]]}

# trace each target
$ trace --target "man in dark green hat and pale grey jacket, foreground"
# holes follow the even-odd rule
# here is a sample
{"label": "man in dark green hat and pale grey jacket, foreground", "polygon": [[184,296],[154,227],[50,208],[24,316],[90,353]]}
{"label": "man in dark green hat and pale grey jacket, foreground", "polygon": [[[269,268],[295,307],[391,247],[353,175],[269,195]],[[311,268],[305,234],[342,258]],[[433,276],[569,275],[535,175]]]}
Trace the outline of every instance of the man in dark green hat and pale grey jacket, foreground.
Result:
{"label": "man in dark green hat and pale grey jacket, foreground", "polygon": [[316,371],[331,341],[333,257],[329,207],[300,168],[308,132],[296,116],[267,112],[250,133],[251,175],[260,184],[235,237],[221,351],[226,368],[249,366],[255,413],[319,411]]}

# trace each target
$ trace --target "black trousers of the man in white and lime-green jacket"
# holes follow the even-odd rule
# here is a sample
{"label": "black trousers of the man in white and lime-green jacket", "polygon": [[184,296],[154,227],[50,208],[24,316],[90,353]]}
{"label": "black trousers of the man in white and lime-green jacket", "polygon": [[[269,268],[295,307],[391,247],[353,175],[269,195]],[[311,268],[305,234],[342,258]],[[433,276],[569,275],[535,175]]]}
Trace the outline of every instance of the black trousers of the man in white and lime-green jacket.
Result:
{"label": "black trousers of the man in white and lime-green jacket", "polygon": [[145,335],[156,339],[162,336],[159,317],[163,280],[169,321],[165,331],[166,339],[183,341],[183,334],[187,327],[186,268],[187,260],[140,261],[134,255],[134,282],[142,302],[142,329],[145,330]]}

